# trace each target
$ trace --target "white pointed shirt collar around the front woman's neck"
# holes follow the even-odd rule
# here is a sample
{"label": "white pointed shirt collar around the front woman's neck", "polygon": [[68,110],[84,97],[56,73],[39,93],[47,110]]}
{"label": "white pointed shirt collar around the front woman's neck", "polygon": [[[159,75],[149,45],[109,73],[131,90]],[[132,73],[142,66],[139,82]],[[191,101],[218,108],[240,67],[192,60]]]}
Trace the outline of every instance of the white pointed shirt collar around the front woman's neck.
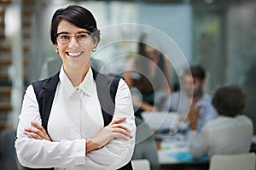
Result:
{"label": "white pointed shirt collar around the front woman's neck", "polygon": [[[65,94],[67,94],[68,98],[70,98],[77,90],[80,90],[84,92],[84,94],[87,94],[89,96],[91,95],[93,82],[94,82],[91,68],[85,75],[83,82],[81,82],[78,87],[73,87],[73,84],[70,82],[69,78],[67,77],[67,74],[63,69],[63,66],[61,66],[59,77],[60,77],[60,82],[62,84],[63,91],[65,92]],[[63,84],[65,84],[65,86],[63,86]]]}

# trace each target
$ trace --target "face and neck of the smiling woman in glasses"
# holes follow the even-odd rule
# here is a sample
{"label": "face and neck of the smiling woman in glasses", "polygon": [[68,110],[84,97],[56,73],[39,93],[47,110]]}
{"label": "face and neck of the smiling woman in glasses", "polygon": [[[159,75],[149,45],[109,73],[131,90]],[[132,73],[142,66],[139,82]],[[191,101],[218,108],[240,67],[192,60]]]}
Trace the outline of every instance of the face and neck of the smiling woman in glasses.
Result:
{"label": "face and neck of the smiling woman in glasses", "polygon": [[[67,71],[67,77],[73,79],[71,80],[73,86],[78,86],[81,80],[84,79],[84,73],[89,70],[91,51],[96,48],[98,42],[96,36],[87,36],[88,38],[82,38],[84,41],[80,42],[79,39],[82,37],[80,35],[82,32],[90,34],[89,30],[79,28],[69,20],[64,19],[59,22],[57,33],[55,34],[57,37],[57,41],[55,41],[56,50],[61,56],[63,67]],[[86,34],[89,35],[88,33]],[[68,75],[73,74],[74,70],[76,70],[76,77]]]}

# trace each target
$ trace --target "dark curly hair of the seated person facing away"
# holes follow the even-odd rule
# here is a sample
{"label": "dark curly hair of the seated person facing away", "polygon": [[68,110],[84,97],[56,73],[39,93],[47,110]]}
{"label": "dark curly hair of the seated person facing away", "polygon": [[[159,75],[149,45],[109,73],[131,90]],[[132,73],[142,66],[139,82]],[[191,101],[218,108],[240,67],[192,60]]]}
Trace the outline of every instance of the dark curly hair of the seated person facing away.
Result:
{"label": "dark curly hair of the seated person facing away", "polygon": [[219,115],[235,117],[241,115],[246,102],[246,94],[238,86],[223,86],[216,89],[212,105]]}

